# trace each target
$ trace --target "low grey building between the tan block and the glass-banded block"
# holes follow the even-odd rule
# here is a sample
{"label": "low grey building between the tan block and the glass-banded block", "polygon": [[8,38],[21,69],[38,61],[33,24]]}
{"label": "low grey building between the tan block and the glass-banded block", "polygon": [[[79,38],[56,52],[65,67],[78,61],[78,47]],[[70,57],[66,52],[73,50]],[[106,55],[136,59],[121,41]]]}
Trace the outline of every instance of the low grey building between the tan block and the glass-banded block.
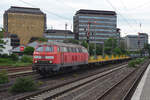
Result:
{"label": "low grey building between the tan block and the glass-banded block", "polygon": [[48,41],[63,42],[65,39],[74,39],[74,34],[70,30],[46,30],[44,37]]}

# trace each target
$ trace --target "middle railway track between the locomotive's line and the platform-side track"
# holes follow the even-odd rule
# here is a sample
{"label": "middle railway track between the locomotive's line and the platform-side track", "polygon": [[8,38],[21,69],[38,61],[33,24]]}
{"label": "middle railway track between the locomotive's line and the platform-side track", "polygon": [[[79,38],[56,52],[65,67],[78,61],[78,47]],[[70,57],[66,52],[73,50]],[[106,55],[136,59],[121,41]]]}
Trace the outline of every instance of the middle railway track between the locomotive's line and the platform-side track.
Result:
{"label": "middle railway track between the locomotive's line and the platform-side track", "polygon": [[99,78],[103,78],[106,75],[109,75],[111,73],[115,73],[116,71],[119,71],[121,69],[124,69],[127,66],[127,64],[122,65],[120,67],[111,69],[111,70],[107,70],[95,75],[91,75],[76,81],[72,81],[69,83],[65,83],[44,91],[40,91],[28,96],[24,96],[24,97],[20,97],[17,98],[17,100],[51,100],[51,99],[58,99],[59,97],[61,97],[64,94],[69,93],[70,91],[73,91],[77,88],[80,88],[82,86],[86,86],[89,83],[92,83],[93,81],[98,80]]}

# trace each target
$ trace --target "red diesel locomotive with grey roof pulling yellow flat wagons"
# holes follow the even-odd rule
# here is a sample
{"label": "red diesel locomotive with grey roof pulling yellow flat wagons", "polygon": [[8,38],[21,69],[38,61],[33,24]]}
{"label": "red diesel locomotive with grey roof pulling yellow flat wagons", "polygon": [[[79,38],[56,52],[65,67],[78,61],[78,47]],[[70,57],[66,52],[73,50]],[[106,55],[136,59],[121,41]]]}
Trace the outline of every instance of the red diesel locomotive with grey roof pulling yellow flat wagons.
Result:
{"label": "red diesel locomotive with grey roof pulling yellow flat wagons", "polygon": [[40,44],[33,53],[33,70],[41,75],[88,64],[88,51],[80,45],[48,42]]}

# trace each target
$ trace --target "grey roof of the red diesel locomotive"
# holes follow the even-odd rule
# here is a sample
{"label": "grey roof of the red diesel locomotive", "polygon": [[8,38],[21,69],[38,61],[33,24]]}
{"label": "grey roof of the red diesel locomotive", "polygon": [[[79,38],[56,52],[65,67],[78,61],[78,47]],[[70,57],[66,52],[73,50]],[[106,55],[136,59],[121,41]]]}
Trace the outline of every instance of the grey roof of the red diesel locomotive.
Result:
{"label": "grey roof of the red diesel locomotive", "polygon": [[80,48],[84,48],[81,45],[72,44],[72,43],[61,43],[61,42],[47,42],[47,43],[41,43],[41,45],[57,45],[57,46],[65,46],[65,47],[80,47]]}

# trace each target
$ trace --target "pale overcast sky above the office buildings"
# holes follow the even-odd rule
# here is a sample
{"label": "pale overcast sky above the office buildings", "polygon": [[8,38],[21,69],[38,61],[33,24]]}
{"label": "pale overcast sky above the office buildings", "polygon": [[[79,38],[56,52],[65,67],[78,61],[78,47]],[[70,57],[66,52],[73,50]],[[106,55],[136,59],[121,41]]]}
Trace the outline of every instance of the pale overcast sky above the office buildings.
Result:
{"label": "pale overcast sky above the office buildings", "polygon": [[[36,7],[47,15],[47,26],[53,29],[73,29],[73,16],[79,9],[112,10],[117,12],[117,27],[121,36],[150,33],[149,0],[1,0],[0,26],[3,13],[10,6]],[[141,28],[140,28],[141,23]]]}

